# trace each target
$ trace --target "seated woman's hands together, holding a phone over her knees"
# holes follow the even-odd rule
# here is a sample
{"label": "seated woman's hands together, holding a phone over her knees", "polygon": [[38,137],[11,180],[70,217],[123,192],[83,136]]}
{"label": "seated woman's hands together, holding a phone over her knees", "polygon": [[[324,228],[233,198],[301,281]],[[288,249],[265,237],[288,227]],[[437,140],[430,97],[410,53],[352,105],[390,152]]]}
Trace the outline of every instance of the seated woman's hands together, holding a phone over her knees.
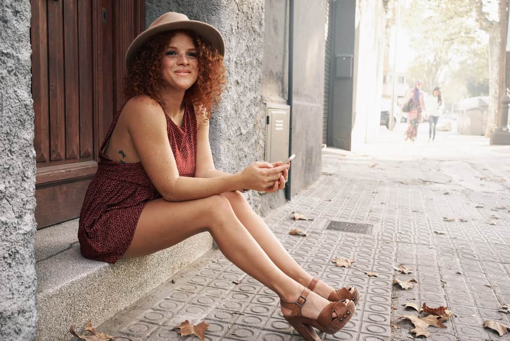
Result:
{"label": "seated woman's hands together, holding a phone over her knees", "polygon": [[276,164],[254,162],[240,171],[238,174],[241,188],[259,192],[276,192],[280,187],[283,188],[290,165],[280,162],[278,166],[274,166]]}

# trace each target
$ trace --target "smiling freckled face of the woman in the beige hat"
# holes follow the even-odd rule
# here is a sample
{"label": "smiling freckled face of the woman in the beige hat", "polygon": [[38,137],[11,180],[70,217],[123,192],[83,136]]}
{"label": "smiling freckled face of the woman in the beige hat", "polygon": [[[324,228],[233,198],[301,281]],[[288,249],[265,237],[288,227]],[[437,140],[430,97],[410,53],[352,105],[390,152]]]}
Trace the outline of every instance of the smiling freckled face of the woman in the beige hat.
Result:
{"label": "smiling freckled face of the woman in the beige hat", "polygon": [[162,76],[169,88],[187,90],[198,78],[197,48],[193,39],[178,32],[163,50]]}

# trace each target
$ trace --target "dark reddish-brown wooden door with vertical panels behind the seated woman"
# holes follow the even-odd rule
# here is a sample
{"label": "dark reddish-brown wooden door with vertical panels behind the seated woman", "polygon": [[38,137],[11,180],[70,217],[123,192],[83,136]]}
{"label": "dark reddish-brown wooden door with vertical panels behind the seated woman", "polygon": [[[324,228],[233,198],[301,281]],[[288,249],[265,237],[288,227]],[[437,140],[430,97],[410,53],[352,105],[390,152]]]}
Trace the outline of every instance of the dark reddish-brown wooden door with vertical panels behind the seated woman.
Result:
{"label": "dark reddish-brown wooden door with vertical panels behind the seated woman", "polygon": [[37,228],[76,218],[122,106],[124,54],[143,0],[32,0]]}

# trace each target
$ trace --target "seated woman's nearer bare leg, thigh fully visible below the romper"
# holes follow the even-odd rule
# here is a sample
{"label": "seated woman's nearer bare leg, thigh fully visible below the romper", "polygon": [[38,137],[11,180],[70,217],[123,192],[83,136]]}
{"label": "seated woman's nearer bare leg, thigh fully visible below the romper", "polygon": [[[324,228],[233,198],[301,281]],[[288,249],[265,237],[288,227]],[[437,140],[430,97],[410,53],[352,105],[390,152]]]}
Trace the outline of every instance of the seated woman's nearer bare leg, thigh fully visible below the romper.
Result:
{"label": "seated woman's nearer bare leg, thigh fully visible below the romper", "polygon": [[[229,201],[214,195],[181,202],[163,199],[145,206],[125,258],[148,255],[208,231],[222,253],[237,267],[275,291],[282,300],[296,302],[303,286],[284,274],[237,219]],[[311,292],[303,315],[317,319],[329,303]],[[290,311],[282,309],[284,314]]]}

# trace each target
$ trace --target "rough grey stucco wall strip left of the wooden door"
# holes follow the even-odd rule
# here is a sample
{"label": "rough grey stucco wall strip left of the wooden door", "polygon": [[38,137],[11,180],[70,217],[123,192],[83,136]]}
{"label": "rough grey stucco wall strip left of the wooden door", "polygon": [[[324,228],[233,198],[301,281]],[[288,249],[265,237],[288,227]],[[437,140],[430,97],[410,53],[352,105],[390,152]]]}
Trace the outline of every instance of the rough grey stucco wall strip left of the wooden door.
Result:
{"label": "rough grey stucco wall strip left of the wooden door", "polygon": [[0,339],[35,338],[30,1],[0,3]]}

